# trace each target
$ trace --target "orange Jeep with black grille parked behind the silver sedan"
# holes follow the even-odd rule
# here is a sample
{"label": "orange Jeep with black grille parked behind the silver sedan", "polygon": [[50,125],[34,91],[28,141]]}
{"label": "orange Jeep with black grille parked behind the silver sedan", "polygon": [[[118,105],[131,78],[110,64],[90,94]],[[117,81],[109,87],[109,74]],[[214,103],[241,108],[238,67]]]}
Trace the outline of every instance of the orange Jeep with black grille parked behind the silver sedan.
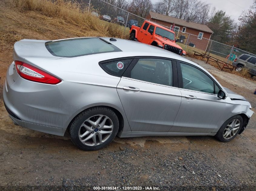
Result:
{"label": "orange Jeep with black grille parked behind the silver sedan", "polygon": [[186,55],[186,52],[175,43],[175,32],[151,21],[144,21],[142,26],[131,26],[130,40],[151,44],[178,55]]}

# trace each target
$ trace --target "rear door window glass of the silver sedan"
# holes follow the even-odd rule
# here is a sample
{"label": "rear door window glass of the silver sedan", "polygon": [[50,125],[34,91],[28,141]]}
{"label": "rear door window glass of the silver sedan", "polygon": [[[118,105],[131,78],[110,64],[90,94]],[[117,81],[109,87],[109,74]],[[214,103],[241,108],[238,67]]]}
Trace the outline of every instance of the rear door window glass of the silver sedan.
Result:
{"label": "rear door window glass of the silver sedan", "polygon": [[131,70],[131,78],[172,86],[171,60],[141,58]]}

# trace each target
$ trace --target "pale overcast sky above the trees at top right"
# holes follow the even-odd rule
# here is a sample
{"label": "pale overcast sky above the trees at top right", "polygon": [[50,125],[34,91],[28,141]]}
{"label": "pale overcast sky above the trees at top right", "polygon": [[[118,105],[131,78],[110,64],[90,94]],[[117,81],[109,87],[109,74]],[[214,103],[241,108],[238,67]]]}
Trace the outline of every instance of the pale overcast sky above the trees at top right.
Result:
{"label": "pale overcast sky above the trees at top right", "polygon": [[[151,0],[153,3],[158,0]],[[201,0],[211,4],[212,7],[216,7],[216,10],[226,11],[226,14],[238,22],[238,17],[243,10],[248,10],[253,4],[253,0]]]}

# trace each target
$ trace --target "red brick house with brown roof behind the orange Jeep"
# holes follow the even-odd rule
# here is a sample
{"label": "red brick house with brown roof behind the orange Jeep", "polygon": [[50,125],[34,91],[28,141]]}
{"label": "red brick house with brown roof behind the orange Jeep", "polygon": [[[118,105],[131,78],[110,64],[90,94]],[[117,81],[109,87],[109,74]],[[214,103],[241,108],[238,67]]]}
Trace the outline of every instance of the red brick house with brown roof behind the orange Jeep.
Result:
{"label": "red brick house with brown roof behind the orange Jeep", "polygon": [[177,42],[204,51],[213,33],[207,25],[190,22],[189,18],[182,20],[150,11],[146,19],[173,29],[176,33]]}

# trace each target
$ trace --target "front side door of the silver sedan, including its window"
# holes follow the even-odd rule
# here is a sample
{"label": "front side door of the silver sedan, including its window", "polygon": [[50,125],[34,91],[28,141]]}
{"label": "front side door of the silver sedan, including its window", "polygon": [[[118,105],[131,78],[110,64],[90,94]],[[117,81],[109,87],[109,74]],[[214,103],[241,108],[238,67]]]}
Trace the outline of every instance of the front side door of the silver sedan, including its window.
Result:
{"label": "front side door of the silver sedan, including its window", "polygon": [[217,132],[233,105],[217,97],[220,87],[200,68],[177,62],[181,107],[170,132]]}

